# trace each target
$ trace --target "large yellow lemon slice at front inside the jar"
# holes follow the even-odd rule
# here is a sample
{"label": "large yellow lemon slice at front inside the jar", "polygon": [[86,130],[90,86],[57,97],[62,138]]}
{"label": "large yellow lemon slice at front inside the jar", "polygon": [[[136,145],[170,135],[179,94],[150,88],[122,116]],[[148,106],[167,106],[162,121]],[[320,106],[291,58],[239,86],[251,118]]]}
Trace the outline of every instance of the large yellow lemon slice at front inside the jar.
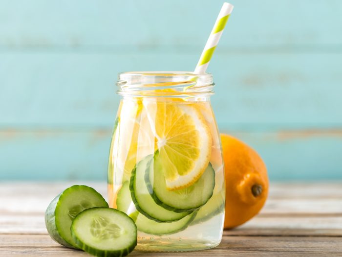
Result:
{"label": "large yellow lemon slice at front inside the jar", "polygon": [[212,136],[202,114],[190,104],[146,100],[143,105],[167,189],[191,186],[203,174],[211,155]]}

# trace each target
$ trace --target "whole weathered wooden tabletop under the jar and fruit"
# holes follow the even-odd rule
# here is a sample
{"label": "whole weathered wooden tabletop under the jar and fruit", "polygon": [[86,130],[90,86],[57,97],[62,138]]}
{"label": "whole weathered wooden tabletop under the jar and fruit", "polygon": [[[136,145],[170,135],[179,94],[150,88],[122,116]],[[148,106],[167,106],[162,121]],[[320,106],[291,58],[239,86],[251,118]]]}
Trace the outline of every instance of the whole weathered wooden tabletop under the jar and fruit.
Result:
{"label": "whole weathered wooden tabletop under the jar and fruit", "polygon": [[[90,256],[52,241],[44,211],[76,183],[0,183],[0,256]],[[106,195],[106,185],[94,187]],[[342,181],[273,183],[263,210],[243,226],[224,231],[210,250],[183,253],[133,251],[129,256],[342,256]]]}

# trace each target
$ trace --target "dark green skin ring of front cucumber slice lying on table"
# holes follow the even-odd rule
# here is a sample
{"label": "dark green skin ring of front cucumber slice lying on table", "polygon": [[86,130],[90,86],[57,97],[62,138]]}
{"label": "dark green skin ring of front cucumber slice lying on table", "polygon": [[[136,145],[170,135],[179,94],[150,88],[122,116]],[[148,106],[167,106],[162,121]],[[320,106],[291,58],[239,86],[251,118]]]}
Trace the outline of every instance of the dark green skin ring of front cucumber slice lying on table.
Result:
{"label": "dark green skin ring of front cucumber slice lying on table", "polygon": [[94,209],[97,209],[97,210],[101,210],[101,209],[111,209],[113,211],[118,211],[120,213],[122,213],[123,215],[127,216],[129,219],[132,220],[132,223],[134,224],[135,226],[135,231],[136,231],[136,236],[135,236],[135,241],[133,242],[133,244],[131,244],[130,246],[128,246],[127,248],[125,249],[122,249],[122,250],[115,250],[115,251],[103,251],[103,250],[100,250],[100,249],[95,249],[93,247],[90,247],[88,245],[86,245],[82,240],[80,240],[76,233],[74,232],[74,229],[73,229],[73,225],[74,225],[74,221],[77,219],[77,217],[79,216],[79,213],[75,219],[73,220],[72,224],[71,224],[71,236],[72,238],[74,239],[74,241],[76,242],[77,246],[79,247],[79,249],[82,249],[83,251],[87,252],[88,254],[91,254],[91,255],[94,255],[94,256],[97,256],[97,257],[124,257],[124,256],[127,256],[130,252],[132,252],[135,248],[135,246],[137,245],[137,227],[135,225],[135,222],[134,220],[129,217],[125,212],[123,211],[120,211],[120,210],[116,210],[116,209],[112,209],[112,208],[107,208],[107,207],[94,207],[94,208],[90,208],[90,209],[87,209],[87,210],[94,210]]}

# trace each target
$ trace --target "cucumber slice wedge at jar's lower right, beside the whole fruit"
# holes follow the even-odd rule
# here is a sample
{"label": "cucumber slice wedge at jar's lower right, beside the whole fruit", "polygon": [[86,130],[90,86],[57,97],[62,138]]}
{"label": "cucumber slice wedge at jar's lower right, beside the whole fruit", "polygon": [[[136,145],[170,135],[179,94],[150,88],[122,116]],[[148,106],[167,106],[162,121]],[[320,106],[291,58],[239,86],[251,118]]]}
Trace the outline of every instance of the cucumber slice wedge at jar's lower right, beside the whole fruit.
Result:
{"label": "cucumber slice wedge at jar's lower right, beside the whole fruit", "polygon": [[195,225],[204,221],[211,219],[217,214],[224,212],[225,206],[225,192],[222,190],[214,194],[209,201],[202,206],[198,212],[191,225]]}

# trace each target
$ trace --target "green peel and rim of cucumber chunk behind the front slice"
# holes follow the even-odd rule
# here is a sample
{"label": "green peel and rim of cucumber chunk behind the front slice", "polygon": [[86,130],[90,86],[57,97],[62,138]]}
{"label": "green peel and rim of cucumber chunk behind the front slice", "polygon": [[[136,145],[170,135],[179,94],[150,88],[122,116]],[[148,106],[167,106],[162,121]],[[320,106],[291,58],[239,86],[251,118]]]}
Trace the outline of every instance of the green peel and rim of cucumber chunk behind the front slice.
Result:
{"label": "green peel and rim of cucumber chunk behind the front slice", "polygon": [[49,206],[47,207],[45,211],[45,226],[50,237],[57,243],[60,243],[66,247],[74,248],[74,249],[79,249],[79,248],[74,242],[66,242],[64,238],[62,237],[62,235],[59,233],[59,227],[61,226],[61,224],[59,224],[58,221],[56,221],[56,210],[58,210],[59,207],[63,204],[63,198],[65,197],[65,195],[67,195],[68,191],[72,191],[80,187],[86,187],[87,189],[92,190],[95,194],[99,196],[100,199],[102,198],[104,207],[108,207],[108,203],[106,202],[106,200],[94,188],[83,186],[83,185],[74,185],[74,186],[66,188],[62,193],[57,195],[52,200],[52,202],[49,204]]}

